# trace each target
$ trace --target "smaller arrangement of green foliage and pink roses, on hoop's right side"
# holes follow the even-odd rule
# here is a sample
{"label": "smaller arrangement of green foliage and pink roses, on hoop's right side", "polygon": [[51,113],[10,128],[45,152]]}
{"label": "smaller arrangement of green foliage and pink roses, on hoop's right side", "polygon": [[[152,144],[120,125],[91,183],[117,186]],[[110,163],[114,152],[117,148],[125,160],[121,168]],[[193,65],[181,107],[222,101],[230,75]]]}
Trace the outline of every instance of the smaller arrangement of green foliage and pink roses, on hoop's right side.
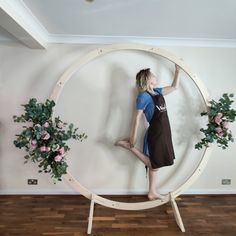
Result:
{"label": "smaller arrangement of green foliage and pink roses, on hoop's right side", "polygon": [[214,141],[218,147],[226,149],[228,142],[234,141],[232,132],[229,130],[229,122],[234,122],[236,117],[236,110],[231,108],[233,96],[233,94],[224,93],[218,102],[210,101],[208,112],[201,113],[201,116],[208,115],[209,122],[206,129],[200,129],[205,137],[195,145],[196,149],[208,147],[209,143]]}

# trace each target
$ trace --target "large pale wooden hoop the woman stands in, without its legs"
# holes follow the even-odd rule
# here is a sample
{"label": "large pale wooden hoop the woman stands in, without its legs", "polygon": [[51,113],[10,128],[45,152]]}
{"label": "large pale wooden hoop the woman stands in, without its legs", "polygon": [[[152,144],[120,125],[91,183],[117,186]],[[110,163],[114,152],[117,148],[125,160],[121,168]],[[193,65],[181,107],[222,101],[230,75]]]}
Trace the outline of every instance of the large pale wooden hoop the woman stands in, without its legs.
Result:
{"label": "large pale wooden hoop the woman stands in, without its legs", "polygon": [[[157,48],[153,46],[148,46],[148,45],[143,45],[143,44],[113,44],[113,45],[108,45],[104,47],[99,47],[88,54],[86,54],[84,57],[80,58],[78,61],[73,63],[61,76],[61,78],[58,80],[56,83],[56,86],[53,89],[53,92],[50,96],[50,99],[54,100],[55,102],[58,101],[58,98],[62,92],[62,89],[64,85],[67,83],[67,81],[71,78],[71,76],[78,71],[82,66],[86,65],[88,62],[92,61],[93,59],[105,55],[107,53],[113,52],[113,51],[118,51],[118,50],[140,50],[140,51],[146,51],[150,52],[159,56],[162,56],[169,61],[176,63],[179,65],[183,71],[185,71],[189,77],[193,80],[195,83],[196,87],[198,88],[206,109],[208,106],[208,102],[210,100],[209,94],[207,92],[206,87],[202,83],[202,81],[191,72],[189,67],[181,60],[180,58],[177,58],[176,56],[172,55],[171,53]],[[117,202],[117,201],[111,201],[109,199],[106,199],[104,197],[98,196],[95,193],[92,193],[90,190],[85,188],[83,185],[79,183],[70,173],[67,173],[65,175],[65,179],[68,181],[68,183],[75,189],[77,190],[80,194],[85,196],[86,198],[90,200],[94,200],[96,203],[99,203],[103,206],[110,207],[110,208],[115,208],[115,209],[120,209],[120,210],[143,210],[143,209],[149,209],[153,207],[157,207],[160,205],[163,205],[171,199],[176,198],[179,196],[181,193],[183,193],[190,185],[196,181],[196,179],[200,176],[202,171],[204,170],[210,154],[212,152],[212,146],[205,148],[204,153],[201,157],[201,160],[198,164],[198,166],[195,168],[193,173],[189,176],[189,178],[183,183],[180,184],[180,186],[172,191],[169,194],[166,194],[164,200],[155,200],[155,201],[146,201],[146,202],[138,202],[138,203],[125,203],[125,202]]]}

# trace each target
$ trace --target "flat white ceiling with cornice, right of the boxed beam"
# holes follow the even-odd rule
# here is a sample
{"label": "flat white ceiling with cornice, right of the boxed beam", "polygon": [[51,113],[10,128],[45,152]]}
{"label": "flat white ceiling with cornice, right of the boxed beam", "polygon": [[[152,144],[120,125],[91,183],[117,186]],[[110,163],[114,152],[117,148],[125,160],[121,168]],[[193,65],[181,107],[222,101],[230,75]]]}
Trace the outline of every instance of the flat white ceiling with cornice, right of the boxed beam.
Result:
{"label": "flat white ceiling with cornice, right of the boxed beam", "polygon": [[[4,0],[3,0],[4,1]],[[236,42],[235,0],[5,0],[46,42]],[[20,9],[20,10],[18,10]],[[27,20],[28,19],[28,20]],[[1,23],[0,23],[1,25]],[[4,25],[4,28],[6,26]],[[8,29],[6,29],[8,30]],[[10,31],[11,32],[11,31]],[[0,29],[0,36],[5,37]],[[9,37],[9,35],[8,35]],[[99,43],[99,42],[98,42]],[[236,44],[235,44],[236,45]]]}

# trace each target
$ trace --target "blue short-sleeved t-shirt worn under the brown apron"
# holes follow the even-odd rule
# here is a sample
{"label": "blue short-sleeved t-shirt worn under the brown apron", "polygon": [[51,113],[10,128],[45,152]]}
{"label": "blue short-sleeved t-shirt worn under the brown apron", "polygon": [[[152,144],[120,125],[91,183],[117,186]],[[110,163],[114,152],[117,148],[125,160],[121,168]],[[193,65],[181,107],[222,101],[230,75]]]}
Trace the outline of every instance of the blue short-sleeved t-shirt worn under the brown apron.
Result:
{"label": "blue short-sleeved t-shirt worn under the brown apron", "polygon": [[[162,88],[154,88],[154,92],[162,94]],[[136,99],[136,109],[143,110],[148,122],[151,121],[155,111],[155,105],[152,97],[147,92],[140,92]]]}

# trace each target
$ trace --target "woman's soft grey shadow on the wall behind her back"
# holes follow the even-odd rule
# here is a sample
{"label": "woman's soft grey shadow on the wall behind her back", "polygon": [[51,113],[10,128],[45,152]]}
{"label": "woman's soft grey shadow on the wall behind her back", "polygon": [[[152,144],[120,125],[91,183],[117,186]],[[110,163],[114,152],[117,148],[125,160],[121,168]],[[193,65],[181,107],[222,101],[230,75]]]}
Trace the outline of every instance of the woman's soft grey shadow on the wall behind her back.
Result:
{"label": "woman's soft grey shadow on the wall behind her back", "polygon": [[[101,125],[101,138],[98,140],[100,145],[114,153],[113,158],[118,166],[126,168],[128,173],[127,189],[131,189],[135,181],[134,159],[138,160],[128,151],[114,146],[117,140],[129,137],[132,117],[135,112],[135,76],[130,76],[127,72],[116,65],[111,65],[110,78],[108,79],[108,98],[106,114],[104,114]],[[121,150],[122,149],[122,150]],[[117,158],[115,154],[122,155],[125,158]]]}

